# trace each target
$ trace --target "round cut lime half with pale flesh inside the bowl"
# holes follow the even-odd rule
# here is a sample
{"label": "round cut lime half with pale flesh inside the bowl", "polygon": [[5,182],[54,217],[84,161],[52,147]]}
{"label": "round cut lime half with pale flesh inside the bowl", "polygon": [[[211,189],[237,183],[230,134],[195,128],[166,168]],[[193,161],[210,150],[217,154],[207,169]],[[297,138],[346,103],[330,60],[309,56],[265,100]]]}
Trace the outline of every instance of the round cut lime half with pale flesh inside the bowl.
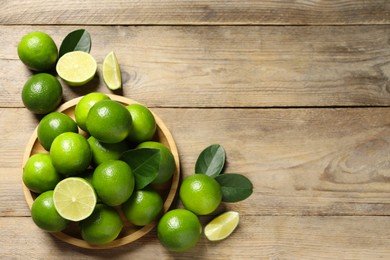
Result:
{"label": "round cut lime half with pale flesh inside the bowl", "polygon": [[54,206],[61,217],[80,221],[89,217],[96,206],[96,194],[91,184],[79,177],[69,177],[54,188]]}

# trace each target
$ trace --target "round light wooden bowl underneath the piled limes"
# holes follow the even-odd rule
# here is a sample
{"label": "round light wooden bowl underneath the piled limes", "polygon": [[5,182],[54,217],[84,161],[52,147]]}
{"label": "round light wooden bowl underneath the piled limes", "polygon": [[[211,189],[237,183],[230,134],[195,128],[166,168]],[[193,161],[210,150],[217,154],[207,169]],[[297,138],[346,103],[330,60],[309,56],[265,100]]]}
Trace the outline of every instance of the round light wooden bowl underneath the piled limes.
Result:
{"label": "round light wooden bowl underneath the piled limes", "polygon": [[[124,105],[138,103],[132,99],[125,98],[122,96],[117,96],[117,95],[108,95],[108,96],[112,100],[118,101]],[[82,97],[75,98],[64,103],[57,109],[57,111],[63,112],[74,119],[74,109],[76,107],[76,104],[81,98]],[[166,212],[171,206],[175,198],[176,191],[179,184],[179,179],[180,179],[179,154],[177,151],[175,141],[173,140],[172,135],[169,132],[168,128],[165,126],[164,122],[155,113],[153,113],[153,115],[157,123],[157,130],[156,130],[154,140],[163,143],[169,148],[169,150],[173,154],[173,157],[175,158],[175,163],[176,163],[176,170],[173,174],[172,179],[167,184],[154,187],[161,194],[164,200],[163,211]],[[79,132],[87,136],[87,134],[81,129],[79,129]],[[38,142],[37,128],[35,128],[25,149],[24,156],[23,156],[23,167],[26,164],[28,158],[31,155],[36,153],[47,153],[47,151]],[[37,194],[31,192],[24,184],[23,184],[23,192],[24,192],[26,202],[31,209],[32,203],[34,199],[37,197]],[[122,232],[119,234],[118,238],[112,241],[111,243],[105,245],[91,245],[87,243],[81,238],[80,230],[77,223],[71,223],[69,227],[62,232],[56,232],[51,234],[62,241],[65,241],[69,244],[78,247],[91,248],[91,249],[107,249],[107,248],[114,248],[114,247],[119,247],[122,245],[129,244],[141,238],[142,236],[146,235],[157,224],[157,221],[154,221],[153,223],[143,227],[134,226],[126,220],[126,218],[124,217],[123,213],[120,210],[120,207],[116,207],[116,209],[120,213],[124,225],[123,225]]]}

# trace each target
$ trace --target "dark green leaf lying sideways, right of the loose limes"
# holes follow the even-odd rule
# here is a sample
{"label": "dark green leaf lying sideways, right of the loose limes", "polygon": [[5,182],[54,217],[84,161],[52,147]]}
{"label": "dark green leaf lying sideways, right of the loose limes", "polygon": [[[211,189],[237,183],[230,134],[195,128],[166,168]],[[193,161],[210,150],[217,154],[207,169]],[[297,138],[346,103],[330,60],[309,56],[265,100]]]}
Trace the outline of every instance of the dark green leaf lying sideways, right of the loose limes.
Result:
{"label": "dark green leaf lying sideways, right of the loose limes", "polygon": [[248,198],[253,192],[251,181],[240,174],[226,173],[219,175],[215,180],[221,185],[222,201],[238,202]]}

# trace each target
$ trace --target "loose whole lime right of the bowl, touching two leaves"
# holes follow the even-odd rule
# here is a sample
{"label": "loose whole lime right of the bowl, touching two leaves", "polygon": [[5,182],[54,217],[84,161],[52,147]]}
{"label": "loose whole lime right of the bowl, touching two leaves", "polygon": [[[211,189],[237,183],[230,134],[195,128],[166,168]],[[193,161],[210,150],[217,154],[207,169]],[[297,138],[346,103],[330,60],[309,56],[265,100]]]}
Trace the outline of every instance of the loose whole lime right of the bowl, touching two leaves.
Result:
{"label": "loose whole lime right of the bowl, touching two leaves", "polygon": [[179,194],[184,207],[197,215],[210,214],[222,201],[221,186],[214,178],[205,174],[186,177]]}

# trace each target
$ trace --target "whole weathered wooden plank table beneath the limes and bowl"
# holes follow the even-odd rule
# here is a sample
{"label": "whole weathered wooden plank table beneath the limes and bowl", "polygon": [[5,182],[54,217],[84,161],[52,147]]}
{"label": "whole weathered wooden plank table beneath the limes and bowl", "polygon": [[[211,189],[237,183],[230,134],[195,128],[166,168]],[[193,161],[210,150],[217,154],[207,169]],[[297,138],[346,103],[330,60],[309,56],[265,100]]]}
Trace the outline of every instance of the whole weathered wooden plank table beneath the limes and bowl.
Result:
{"label": "whole weathered wooden plank table beneath the limes and bowl", "polygon": [[[389,259],[390,2],[32,0],[0,4],[1,259]],[[115,250],[59,241],[31,220],[22,156],[39,117],[21,37],[59,45],[84,28],[99,73],[114,50],[119,94],[149,106],[177,142],[182,175],[206,146],[254,183],[227,240],[169,253],[155,229]],[[101,74],[99,74],[101,76]],[[64,85],[64,101],[108,91]],[[206,223],[213,216],[202,217]]]}

